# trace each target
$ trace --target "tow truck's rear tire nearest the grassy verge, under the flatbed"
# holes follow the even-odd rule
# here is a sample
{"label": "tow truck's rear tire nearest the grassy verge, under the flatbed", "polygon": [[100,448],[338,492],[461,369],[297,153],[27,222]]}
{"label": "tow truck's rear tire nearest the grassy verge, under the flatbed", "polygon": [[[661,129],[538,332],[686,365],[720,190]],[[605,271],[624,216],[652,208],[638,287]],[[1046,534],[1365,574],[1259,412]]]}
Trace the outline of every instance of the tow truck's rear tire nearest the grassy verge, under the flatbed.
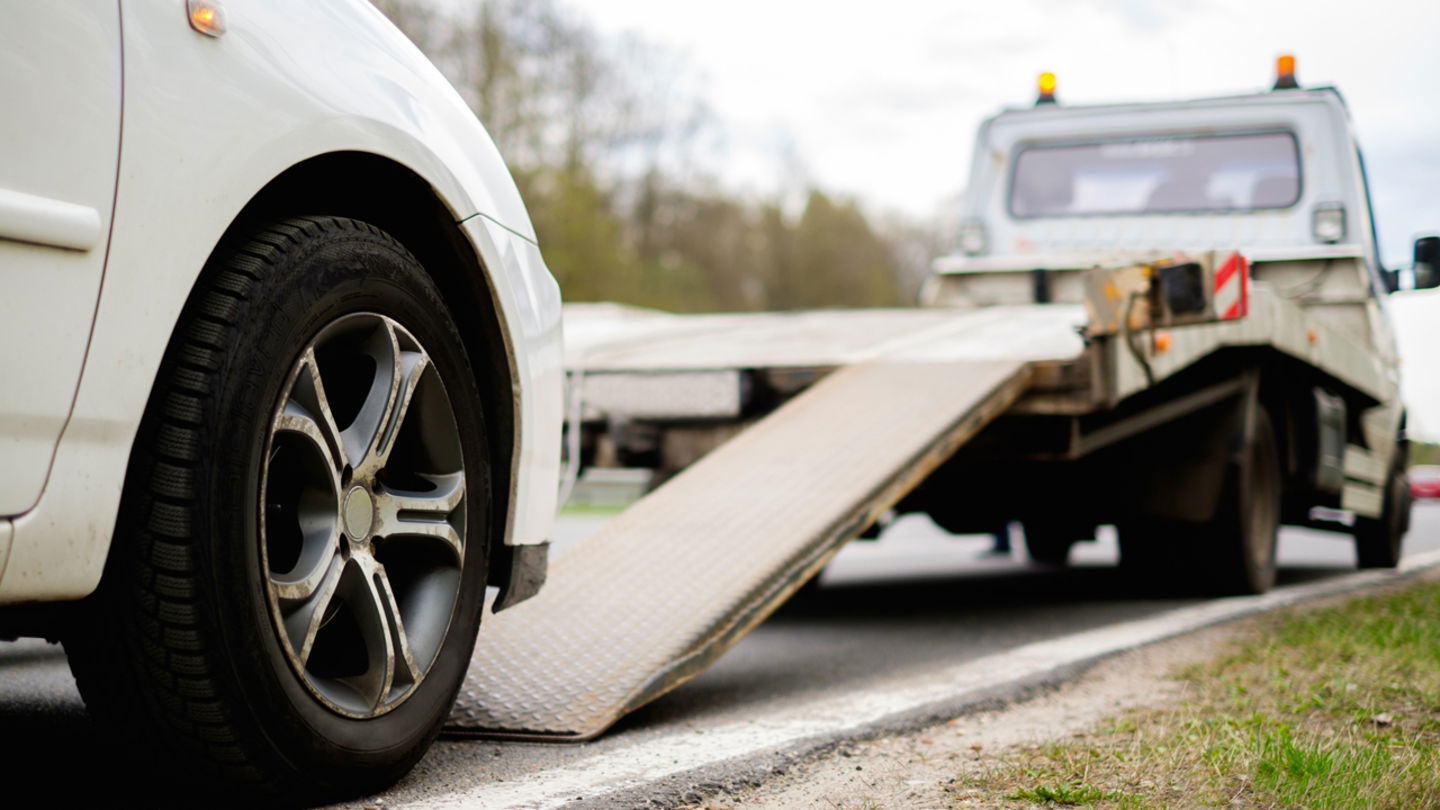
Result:
{"label": "tow truck's rear tire nearest the grassy verge, under the flatbed", "polygon": [[1253,427],[1244,460],[1225,473],[1215,519],[1198,538],[1205,585],[1218,594],[1263,594],[1274,585],[1280,453],[1264,408],[1256,408]]}

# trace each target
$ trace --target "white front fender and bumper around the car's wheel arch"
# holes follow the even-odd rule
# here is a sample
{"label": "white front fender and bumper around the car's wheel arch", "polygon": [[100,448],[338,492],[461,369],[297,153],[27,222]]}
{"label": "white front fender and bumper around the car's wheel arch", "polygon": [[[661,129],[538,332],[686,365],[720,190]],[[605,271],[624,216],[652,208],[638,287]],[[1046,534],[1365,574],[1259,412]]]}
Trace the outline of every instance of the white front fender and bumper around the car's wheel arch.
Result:
{"label": "white front fender and bumper around the car's wheel arch", "polygon": [[[229,4],[220,37],[192,30],[179,0],[122,10],[124,148],[92,347],[45,496],[14,519],[0,602],[95,588],[131,442],[196,277],[266,183],[336,151],[382,156],[422,177],[490,270],[517,372],[514,457],[528,461],[511,477],[505,539],[546,540],[546,476],[559,466],[559,294],[537,251],[530,257],[534,231],[513,179],[459,95],[364,0]],[[503,223],[505,238],[459,225],[475,215]]]}

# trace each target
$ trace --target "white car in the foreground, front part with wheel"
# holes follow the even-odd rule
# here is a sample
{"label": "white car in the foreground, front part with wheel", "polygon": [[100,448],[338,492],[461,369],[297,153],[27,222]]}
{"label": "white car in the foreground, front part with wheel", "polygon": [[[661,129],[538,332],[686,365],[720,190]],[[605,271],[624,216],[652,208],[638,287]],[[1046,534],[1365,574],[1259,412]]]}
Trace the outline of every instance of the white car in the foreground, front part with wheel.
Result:
{"label": "white car in the foreground, front part with wheel", "polygon": [[389,784],[554,516],[490,137],[364,0],[10,3],[0,107],[0,636],[171,774]]}

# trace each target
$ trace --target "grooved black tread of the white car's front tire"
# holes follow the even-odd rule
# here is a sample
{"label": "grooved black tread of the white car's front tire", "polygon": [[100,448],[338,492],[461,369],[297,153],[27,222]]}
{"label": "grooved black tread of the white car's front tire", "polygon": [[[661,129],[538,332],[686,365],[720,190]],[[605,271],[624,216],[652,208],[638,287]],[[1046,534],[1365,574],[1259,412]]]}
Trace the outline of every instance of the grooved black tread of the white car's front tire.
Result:
{"label": "grooved black tread of the white car's front tire", "polygon": [[[181,320],[157,375],[153,401],[163,405],[151,408],[157,418],[148,425],[154,458],[143,466],[143,480],[127,483],[121,519],[127,507],[131,517],[143,516],[138,523],[143,528],[134,538],[140,561],[112,552],[102,591],[115,591],[114,585],[127,579],[122,571],[111,575],[118,566],[138,565],[138,575],[130,578],[125,592],[91,598],[96,613],[108,614],[104,617],[108,621],[88,621],[89,631],[79,628],[66,637],[72,672],[92,713],[122,738],[144,734],[145,744],[138,748],[151,752],[150,764],[186,774],[189,783],[222,780],[271,796],[285,788],[274,777],[276,768],[268,761],[264,742],[246,739],[229,716],[226,705],[238,696],[226,695],[209,654],[212,640],[203,630],[200,572],[193,552],[193,517],[202,489],[197,428],[216,393],[225,349],[256,284],[288,251],[301,246],[304,236],[321,232],[380,236],[405,251],[370,225],[304,216],[262,229],[232,258],[207,271],[203,291]],[[121,542],[117,536],[117,545]],[[121,646],[121,637],[134,644]],[[181,768],[176,768],[177,760]]]}

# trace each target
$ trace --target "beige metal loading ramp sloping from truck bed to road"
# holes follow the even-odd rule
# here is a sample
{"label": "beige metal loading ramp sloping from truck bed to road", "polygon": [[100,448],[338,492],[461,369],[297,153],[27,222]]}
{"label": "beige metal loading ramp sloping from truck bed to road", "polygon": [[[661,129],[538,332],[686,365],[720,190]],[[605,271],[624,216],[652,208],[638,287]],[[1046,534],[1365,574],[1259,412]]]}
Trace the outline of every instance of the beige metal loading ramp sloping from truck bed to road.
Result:
{"label": "beige metal loading ramp sloping from truck bed to road", "polygon": [[559,556],[487,615],[448,731],[589,739],[703,672],[1004,412],[1024,360],[821,379]]}

